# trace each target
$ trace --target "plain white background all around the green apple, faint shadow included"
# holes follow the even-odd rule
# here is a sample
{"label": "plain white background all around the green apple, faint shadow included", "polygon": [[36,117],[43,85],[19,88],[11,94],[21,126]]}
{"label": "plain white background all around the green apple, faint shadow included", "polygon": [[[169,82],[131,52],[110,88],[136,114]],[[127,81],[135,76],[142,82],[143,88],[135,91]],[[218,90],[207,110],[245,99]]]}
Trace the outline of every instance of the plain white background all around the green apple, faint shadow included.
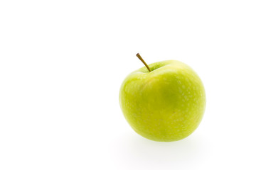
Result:
{"label": "plain white background all around the green apple, faint shadow included", "polygon": [[[0,169],[256,169],[256,2],[0,1]],[[206,88],[178,142],[137,135],[124,78],[180,60]]]}

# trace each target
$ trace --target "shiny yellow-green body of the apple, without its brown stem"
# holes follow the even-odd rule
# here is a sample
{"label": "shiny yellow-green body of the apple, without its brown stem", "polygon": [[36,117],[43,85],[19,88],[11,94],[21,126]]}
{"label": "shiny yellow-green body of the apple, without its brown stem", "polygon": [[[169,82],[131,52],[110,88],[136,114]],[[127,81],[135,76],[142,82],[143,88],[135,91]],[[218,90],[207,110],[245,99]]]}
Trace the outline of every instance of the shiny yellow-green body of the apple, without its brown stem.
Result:
{"label": "shiny yellow-green body of the apple, without its brown stem", "polygon": [[142,67],[124,79],[119,103],[132,129],[149,140],[182,140],[196,130],[206,108],[206,93],[196,72],[168,60]]}

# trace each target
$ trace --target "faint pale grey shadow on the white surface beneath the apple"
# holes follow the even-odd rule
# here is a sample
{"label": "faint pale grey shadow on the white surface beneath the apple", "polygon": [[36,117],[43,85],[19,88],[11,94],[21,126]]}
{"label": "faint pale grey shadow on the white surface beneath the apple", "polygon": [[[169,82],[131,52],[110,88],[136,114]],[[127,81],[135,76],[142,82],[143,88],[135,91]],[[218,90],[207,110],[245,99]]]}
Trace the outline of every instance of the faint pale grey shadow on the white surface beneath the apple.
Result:
{"label": "faint pale grey shadow on the white surface beneath the apple", "polygon": [[120,163],[129,162],[129,166],[152,168],[187,167],[198,157],[206,157],[203,155],[204,149],[206,145],[203,145],[202,137],[196,133],[176,142],[154,142],[137,134],[126,134],[119,138],[118,145],[115,146]]}

